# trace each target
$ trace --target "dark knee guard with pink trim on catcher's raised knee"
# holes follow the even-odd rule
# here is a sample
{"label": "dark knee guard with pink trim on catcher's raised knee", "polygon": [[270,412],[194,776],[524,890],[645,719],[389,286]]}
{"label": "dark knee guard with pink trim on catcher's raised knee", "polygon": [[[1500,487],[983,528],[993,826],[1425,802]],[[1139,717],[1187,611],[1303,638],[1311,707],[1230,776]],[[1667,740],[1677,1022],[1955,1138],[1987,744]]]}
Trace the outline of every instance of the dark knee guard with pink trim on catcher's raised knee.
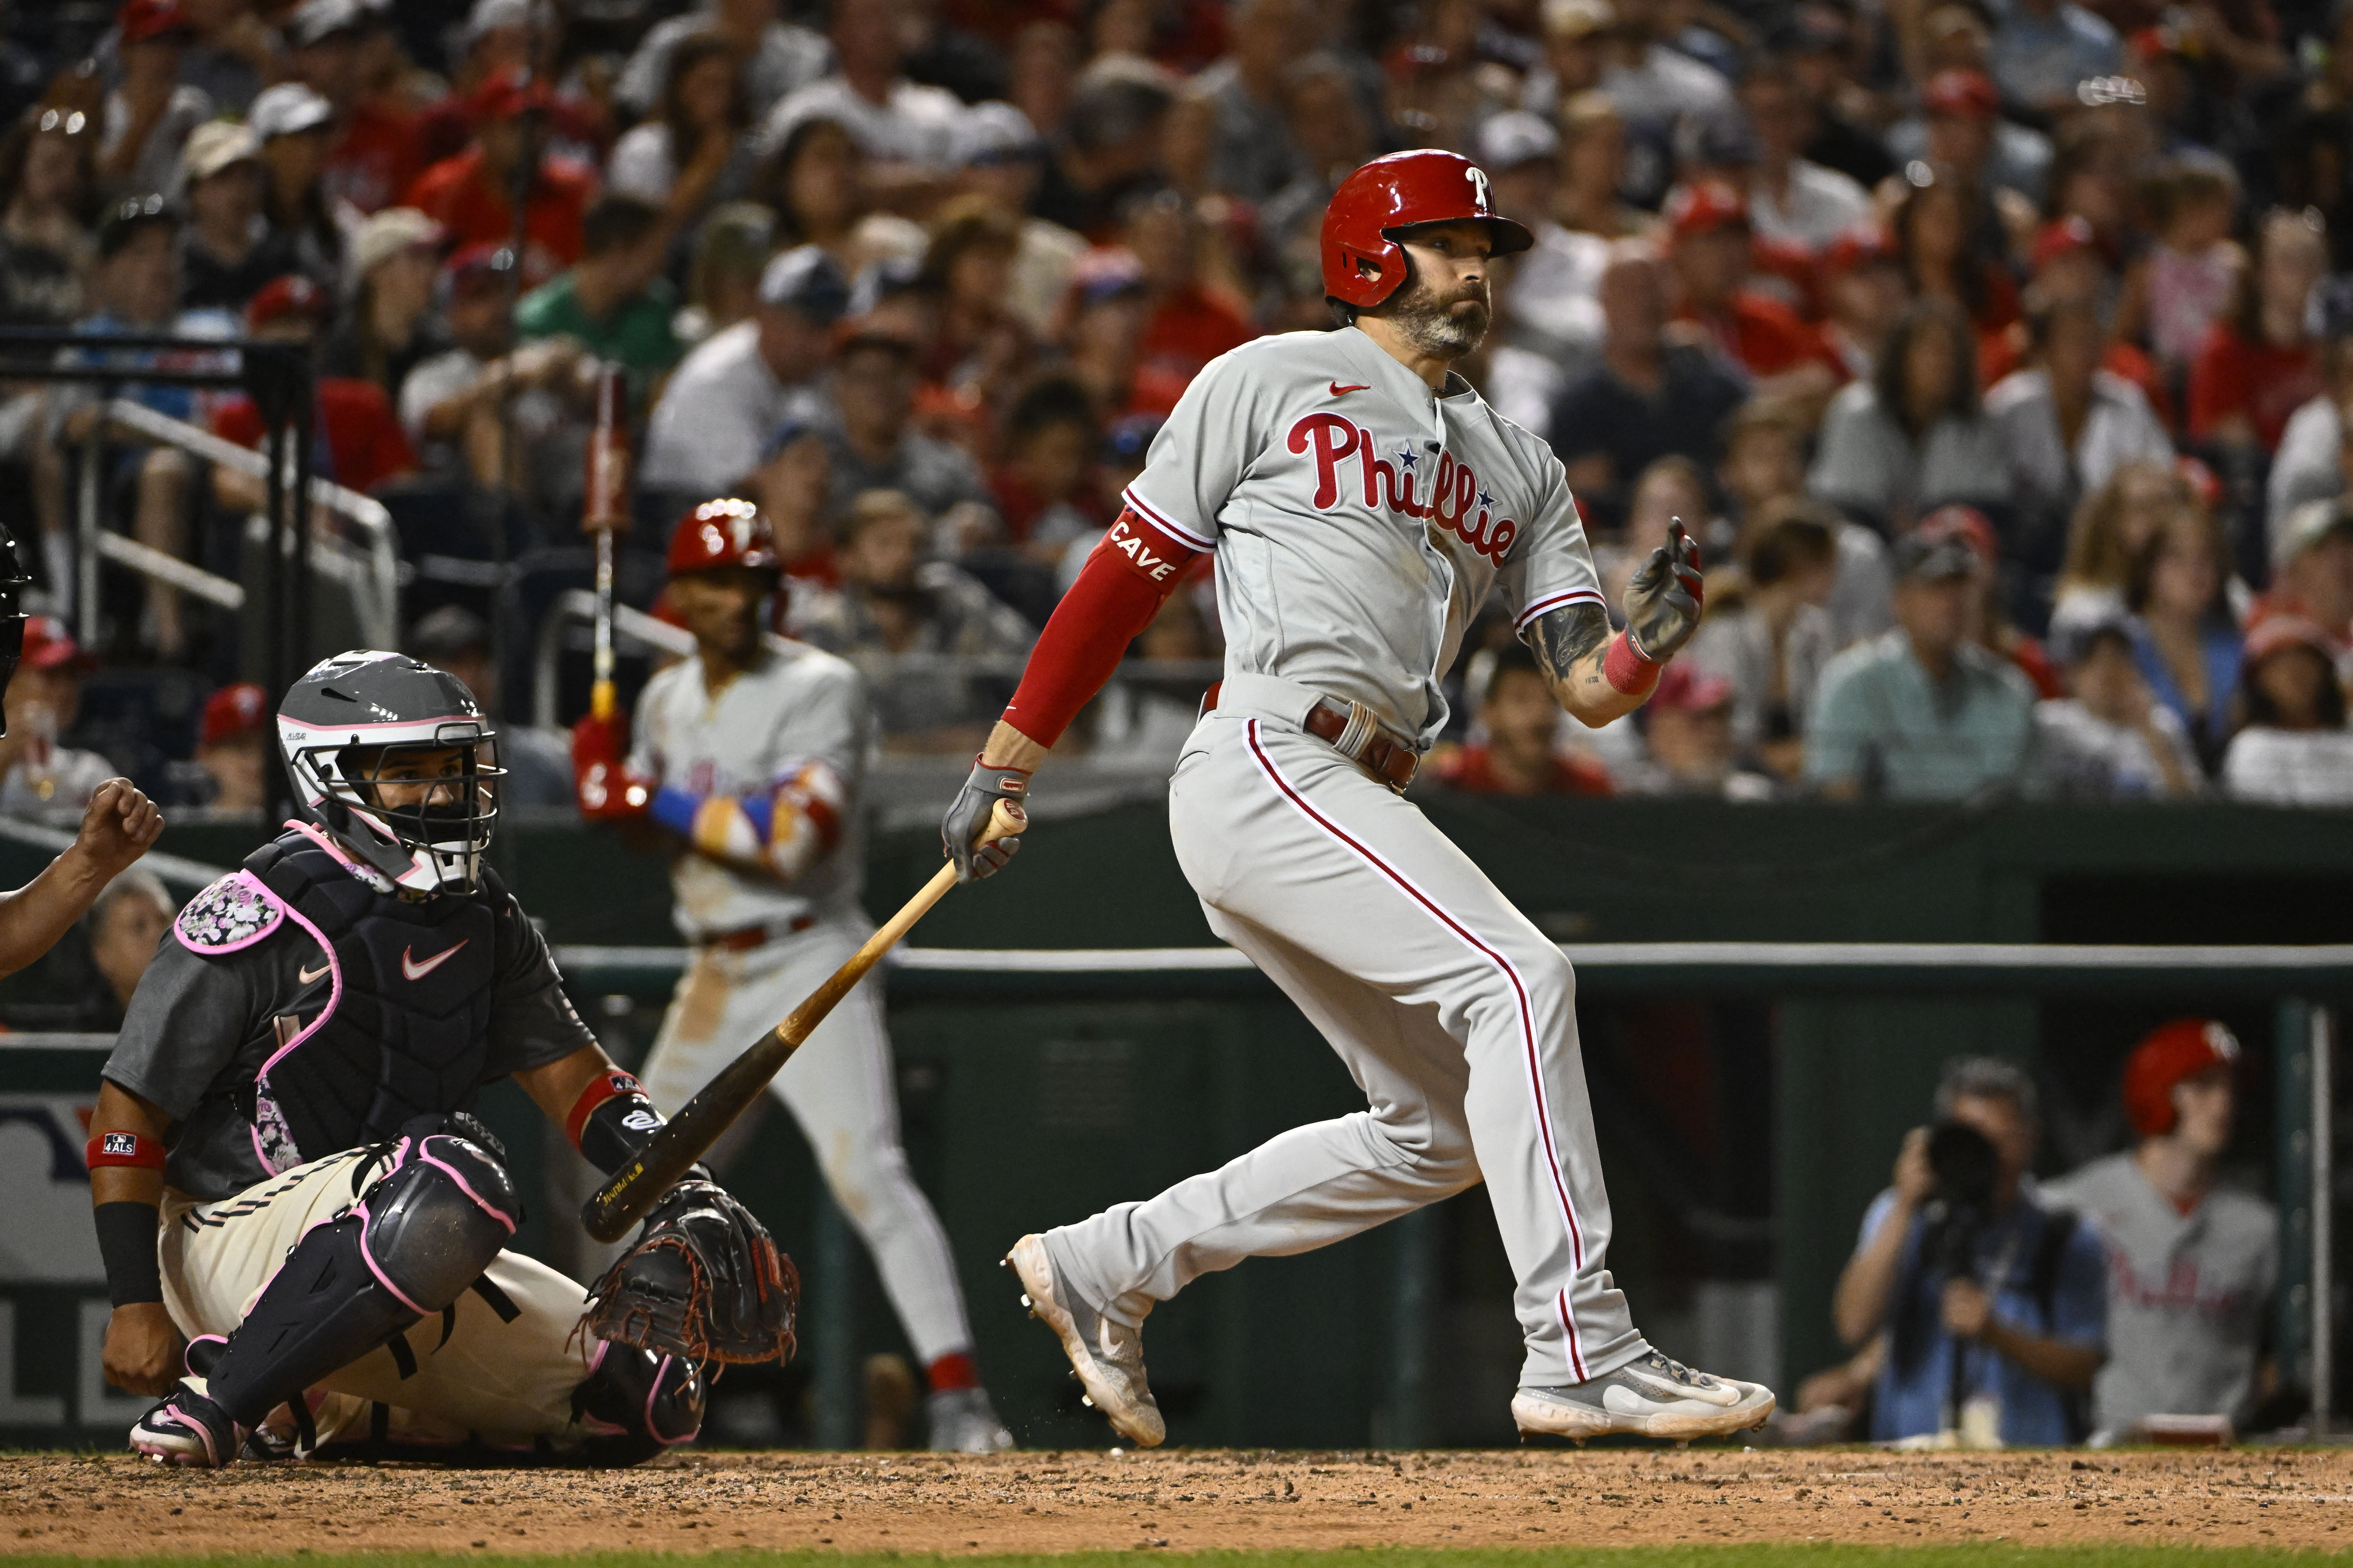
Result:
{"label": "dark knee guard with pink trim on catcher's raised knee", "polygon": [[360,1246],[369,1272],[416,1314],[440,1312],[499,1255],[522,1199],[506,1161],[473,1138],[414,1133],[393,1145],[393,1168],[360,1194]]}

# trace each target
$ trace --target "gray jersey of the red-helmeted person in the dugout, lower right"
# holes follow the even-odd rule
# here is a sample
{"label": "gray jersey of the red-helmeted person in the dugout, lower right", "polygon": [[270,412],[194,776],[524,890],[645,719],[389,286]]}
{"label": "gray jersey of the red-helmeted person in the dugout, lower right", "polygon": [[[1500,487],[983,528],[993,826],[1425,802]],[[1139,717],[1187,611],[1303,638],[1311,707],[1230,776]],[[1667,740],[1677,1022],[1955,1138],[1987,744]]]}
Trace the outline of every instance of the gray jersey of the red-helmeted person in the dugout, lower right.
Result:
{"label": "gray jersey of the red-helmeted person in the dugout, lower right", "polygon": [[2047,1182],[2042,1199],[2082,1213],[2108,1251],[2108,1361],[2092,1382],[2092,1425],[2122,1436],[2144,1415],[2245,1420],[2280,1279],[2278,1211],[2224,1190],[2181,1213],[2129,1152]]}

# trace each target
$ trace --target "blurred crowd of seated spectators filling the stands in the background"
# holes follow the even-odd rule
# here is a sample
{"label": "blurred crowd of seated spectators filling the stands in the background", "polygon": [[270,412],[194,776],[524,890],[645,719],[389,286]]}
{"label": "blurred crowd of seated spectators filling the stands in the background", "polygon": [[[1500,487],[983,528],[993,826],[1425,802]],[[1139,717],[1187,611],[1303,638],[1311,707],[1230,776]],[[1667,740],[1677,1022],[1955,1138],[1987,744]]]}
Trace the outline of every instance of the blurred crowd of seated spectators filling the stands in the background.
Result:
{"label": "blurred crowd of seated spectators filling the stands in the background", "polygon": [[[1438,788],[2353,802],[2344,0],[75,14],[0,7],[0,324],[308,346],[315,470],[391,510],[412,651],[492,710],[555,614],[515,574],[579,571],[619,371],[631,555],[755,501],[776,628],[868,661],[885,748],[969,750],[1202,364],[1332,324],[1337,181],[1445,146],[1537,233],[1461,369],[1567,465],[1612,599],[1682,517],[1708,618],[1569,736],[1482,614]],[[266,437],[245,395],[125,395]],[[235,806],[256,637],[155,576],[73,607],[85,487],[151,550],[259,562],[261,477],[0,386],[0,510],[94,642],[28,646],[0,809],[78,788],[94,661],[219,686],[172,762]],[[624,597],[659,614],[654,559]],[[1174,757],[1219,654],[1198,581],[1082,743]]]}

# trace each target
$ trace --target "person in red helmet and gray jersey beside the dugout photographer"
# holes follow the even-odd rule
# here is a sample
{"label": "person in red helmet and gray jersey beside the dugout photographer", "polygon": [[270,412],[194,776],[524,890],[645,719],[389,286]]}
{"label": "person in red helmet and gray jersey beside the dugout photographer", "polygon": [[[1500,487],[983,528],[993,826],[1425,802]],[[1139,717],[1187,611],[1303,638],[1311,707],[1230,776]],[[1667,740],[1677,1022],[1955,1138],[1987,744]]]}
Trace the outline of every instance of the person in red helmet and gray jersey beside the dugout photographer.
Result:
{"label": "person in red helmet and gray jersey beside the dugout photographer", "polygon": [[2049,1206],[2092,1220],[2108,1251],[2094,1446],[2141,1441],[2151,1415],[2245,1422],[2264,1394],[2280,1215],[2221,1185],[2235,1110],[2238,1039],[2214,1018],[2177,1018],[2125,1065],[2139,1145],[2042,1187]]}

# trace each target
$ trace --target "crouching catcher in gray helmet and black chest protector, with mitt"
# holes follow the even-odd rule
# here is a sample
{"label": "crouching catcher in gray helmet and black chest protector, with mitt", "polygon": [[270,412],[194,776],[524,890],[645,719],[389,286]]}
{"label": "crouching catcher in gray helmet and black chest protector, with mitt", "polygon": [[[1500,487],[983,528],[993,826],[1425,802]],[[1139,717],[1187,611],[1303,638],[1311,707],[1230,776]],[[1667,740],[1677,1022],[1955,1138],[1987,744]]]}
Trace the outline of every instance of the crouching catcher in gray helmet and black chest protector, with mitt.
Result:
{"label": "crouching catcher in gray helmet and black chest protector, with mitt", "polygon": [[504,1251],[522,1201],[482,1084],[511,1074],[605,1171],[661,1117],[482,865],[482,710],[355,651],[294,684],[278,738],[315,820],[179,914],[89,1124],[106,1375],[162,1396],[132,1448],[635,1465],[692,1439],[706,1361],[791,1354],[798,1284],[708,1180],[593,1293]]}

